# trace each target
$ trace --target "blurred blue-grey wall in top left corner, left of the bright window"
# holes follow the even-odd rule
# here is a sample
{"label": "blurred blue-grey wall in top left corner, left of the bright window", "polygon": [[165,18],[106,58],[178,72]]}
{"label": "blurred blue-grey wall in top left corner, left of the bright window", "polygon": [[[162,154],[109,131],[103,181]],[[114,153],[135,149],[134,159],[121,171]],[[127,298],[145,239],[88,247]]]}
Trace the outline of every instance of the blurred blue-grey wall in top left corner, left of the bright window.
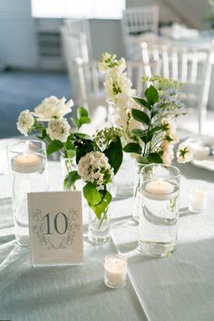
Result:
{"label": "blurred blue-grey wall in top left corner, left of the bright window", "polygon": [[37,48],[30,0],[0,1],[0,44],[0,67],[34,67]]}

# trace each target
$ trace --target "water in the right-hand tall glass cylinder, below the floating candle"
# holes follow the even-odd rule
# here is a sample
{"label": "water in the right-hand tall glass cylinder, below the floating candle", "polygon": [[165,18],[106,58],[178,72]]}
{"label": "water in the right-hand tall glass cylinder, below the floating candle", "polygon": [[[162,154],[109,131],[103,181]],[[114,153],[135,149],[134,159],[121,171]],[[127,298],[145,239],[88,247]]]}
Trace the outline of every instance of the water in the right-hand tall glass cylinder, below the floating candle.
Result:
{"label": "water in the right-hand tall glass cylinder, below the floating candle", "polygon": [[169,184],[169,193],[154,194],[144,185],[141,198],[139,249],[160,258],[175,251],[178,238],[179,185],[165,184]]}

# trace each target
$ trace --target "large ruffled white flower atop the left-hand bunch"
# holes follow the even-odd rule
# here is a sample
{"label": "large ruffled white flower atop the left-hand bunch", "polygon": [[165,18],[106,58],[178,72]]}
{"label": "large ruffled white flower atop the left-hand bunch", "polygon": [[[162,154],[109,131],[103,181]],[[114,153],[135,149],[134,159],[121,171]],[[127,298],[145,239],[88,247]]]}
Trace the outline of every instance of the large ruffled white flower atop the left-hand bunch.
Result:
{"label": "large ruffled white flower atop the left-hand bunch", "polygon": [[34,109],[34,116],[38,117],[39,122],[50,122],[55,118],[63,118],[69,112],[72,112],[73,100],[71,99],[67,103],[63,97],[58,99],[55,96],[50,96],[44,99]]}

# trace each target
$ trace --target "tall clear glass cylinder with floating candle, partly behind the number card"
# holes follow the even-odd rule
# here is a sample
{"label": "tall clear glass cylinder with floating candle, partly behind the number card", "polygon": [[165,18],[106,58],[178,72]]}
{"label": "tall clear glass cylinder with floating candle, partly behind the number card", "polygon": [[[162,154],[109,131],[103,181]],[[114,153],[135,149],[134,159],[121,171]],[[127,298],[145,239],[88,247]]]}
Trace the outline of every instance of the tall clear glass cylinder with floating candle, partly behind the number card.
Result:
{"label": "tall clear glass cylinder with floating candle, partly behind the number card", "polygon": [[48,190],[46,149],[43,141],[16,141],[7,147],[11,173],[15,239],[29,244],[27,193]]}

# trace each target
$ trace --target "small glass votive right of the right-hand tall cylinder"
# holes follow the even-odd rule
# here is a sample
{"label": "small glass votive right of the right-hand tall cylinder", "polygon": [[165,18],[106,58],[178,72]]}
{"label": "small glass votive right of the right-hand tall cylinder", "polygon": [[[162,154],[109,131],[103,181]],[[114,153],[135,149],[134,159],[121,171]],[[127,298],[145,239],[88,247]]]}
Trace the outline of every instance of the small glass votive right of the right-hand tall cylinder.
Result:
{"label": "small glass votive right of the right-hand tall cylinder", "polygon": [[190,212],[201,212],[206,209],[208,193],[204,190],[190,190],[189,210]]}

